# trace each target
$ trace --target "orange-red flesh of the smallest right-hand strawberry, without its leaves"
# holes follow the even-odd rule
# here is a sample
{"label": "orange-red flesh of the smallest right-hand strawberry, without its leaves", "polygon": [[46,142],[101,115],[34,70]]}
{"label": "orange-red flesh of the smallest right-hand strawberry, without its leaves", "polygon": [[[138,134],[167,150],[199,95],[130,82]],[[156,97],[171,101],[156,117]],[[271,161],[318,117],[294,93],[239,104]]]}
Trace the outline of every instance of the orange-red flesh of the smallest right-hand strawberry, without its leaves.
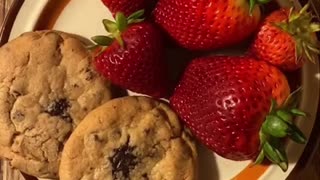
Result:
{"label": "orange-red flesh of the smallest right-hand strawberry, without its leaves", "polygon": [[276,27],[274,23],[288,21],[289,10],[281,9],[271,13],[262,23],[251,47],[251,53],[286,71],[302,67],[296,61],[296,44],[291,35]]}

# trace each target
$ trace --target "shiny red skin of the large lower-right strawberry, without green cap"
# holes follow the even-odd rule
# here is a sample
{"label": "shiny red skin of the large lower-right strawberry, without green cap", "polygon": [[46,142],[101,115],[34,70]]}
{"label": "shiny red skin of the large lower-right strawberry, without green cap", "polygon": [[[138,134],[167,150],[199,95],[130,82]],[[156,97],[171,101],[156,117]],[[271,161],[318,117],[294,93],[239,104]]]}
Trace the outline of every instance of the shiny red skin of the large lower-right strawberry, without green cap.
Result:
{"label": "shiny red skin of the large lower-right strawberry, without green cap", "polygon": [[232,160],[254,158],[271,99],[282,104],[290,88],[275,67],[248,57],[196,59],[170,104],[208,148]]}

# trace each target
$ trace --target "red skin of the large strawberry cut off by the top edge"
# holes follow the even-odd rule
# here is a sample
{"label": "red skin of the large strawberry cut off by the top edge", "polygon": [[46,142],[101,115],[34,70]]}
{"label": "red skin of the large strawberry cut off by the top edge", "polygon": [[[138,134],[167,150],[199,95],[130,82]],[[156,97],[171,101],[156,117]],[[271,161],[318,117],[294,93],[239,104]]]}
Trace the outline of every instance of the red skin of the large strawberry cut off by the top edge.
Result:
{"label": "red skin of the large strawberry cut off by the top edge", "polygon": [[155,21],[181,46],[209,50],[235,45],[258,27],[260,9],[252,16],[243,0],[159,0]]}

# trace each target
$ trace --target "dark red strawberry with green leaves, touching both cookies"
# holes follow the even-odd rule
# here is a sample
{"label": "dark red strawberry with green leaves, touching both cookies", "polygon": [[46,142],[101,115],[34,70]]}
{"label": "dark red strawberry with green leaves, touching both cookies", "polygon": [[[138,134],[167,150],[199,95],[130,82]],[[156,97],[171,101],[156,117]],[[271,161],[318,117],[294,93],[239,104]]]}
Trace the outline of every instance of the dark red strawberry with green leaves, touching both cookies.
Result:
{"label": "dark red strawberry with green leaves, touching both cookies", "polygon": [[143,11],[128,18],[116,15],[116,22],[103,20],[110,36],[95,36],[100,47],[94,65],[112,83],[131,91],[153,97],[167,93],[167,65],[163,57],[161,33],[139,19]]}

